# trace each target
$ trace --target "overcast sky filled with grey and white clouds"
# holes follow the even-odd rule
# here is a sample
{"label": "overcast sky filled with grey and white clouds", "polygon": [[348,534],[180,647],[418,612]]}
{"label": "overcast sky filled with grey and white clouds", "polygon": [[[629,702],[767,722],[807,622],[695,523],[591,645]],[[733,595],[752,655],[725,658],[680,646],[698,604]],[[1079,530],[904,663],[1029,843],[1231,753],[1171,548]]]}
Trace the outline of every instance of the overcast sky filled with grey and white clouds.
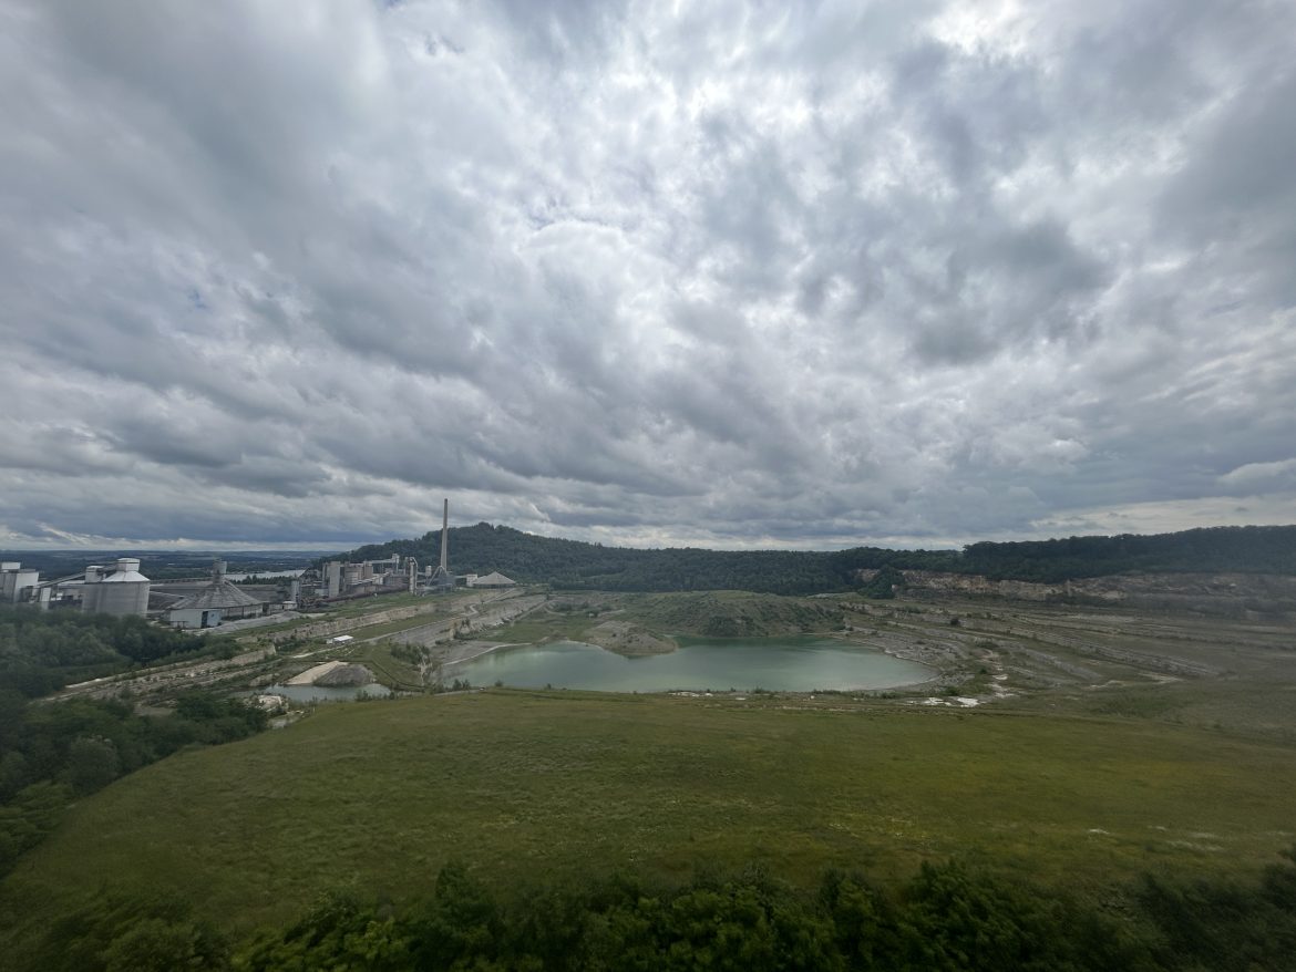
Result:
{"label": "overcast sky filled with grey and white clouds", "polygon": [[1293,38],[0,0],[0,547],[1296,522]]}

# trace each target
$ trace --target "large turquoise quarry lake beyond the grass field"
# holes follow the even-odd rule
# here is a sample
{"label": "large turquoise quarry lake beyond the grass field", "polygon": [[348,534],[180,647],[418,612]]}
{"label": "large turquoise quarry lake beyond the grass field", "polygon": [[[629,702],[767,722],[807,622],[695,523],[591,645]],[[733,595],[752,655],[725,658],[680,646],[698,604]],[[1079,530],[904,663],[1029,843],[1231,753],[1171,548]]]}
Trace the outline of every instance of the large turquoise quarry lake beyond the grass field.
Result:
{"label": "large turquoise quarry lake beyond the grass field", "polygon": [[669,654],[625,658],[579,642],[503,648],[447,666],[443,678],[474,686],[783,692],[896,688],[934,674],[918,662],[826,638],[686,639]]}

